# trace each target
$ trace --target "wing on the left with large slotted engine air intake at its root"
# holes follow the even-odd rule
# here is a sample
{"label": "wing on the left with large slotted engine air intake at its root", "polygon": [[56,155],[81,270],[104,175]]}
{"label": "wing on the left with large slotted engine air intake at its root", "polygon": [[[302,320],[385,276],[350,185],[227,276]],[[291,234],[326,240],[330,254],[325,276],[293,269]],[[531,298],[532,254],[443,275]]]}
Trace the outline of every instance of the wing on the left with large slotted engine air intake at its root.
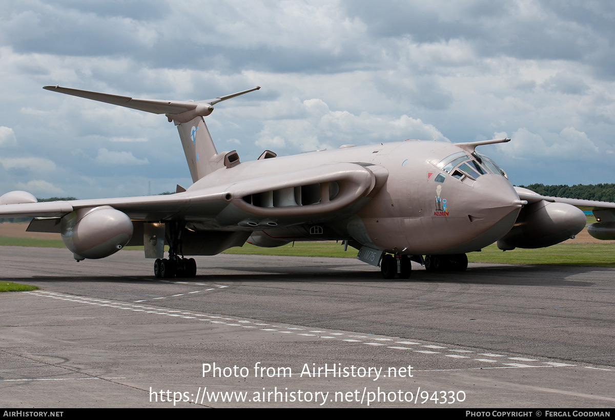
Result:
{"label": "wing on the left with large slotted engine air intake at its root", "polygon": [[338,218],[347,207],[357,210],[361,199],[379,189],[387,175],[381,167],[327,164],[166,196],[4,204],[0,216],[61,218],[77,210],[109,206],[133,221],[182,220],[206,222],[205,230],[245,230],[272,218],[278,221],[275,226]]}

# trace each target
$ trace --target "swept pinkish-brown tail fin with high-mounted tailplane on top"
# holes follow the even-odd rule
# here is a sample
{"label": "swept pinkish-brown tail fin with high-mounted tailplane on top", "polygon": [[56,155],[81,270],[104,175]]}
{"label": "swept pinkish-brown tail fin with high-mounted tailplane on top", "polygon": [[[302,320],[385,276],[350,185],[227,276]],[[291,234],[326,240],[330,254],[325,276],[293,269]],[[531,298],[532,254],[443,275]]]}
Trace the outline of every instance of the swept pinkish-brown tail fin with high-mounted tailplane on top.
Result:
{"label": "swept pinkish-brown tail fin with high-mounted tailplane on top", "polygon": [[[229,154],[218,154],[216,146],[213,144],[212,136],[205,125],[203,117],[213,112],[213,105],[225,101],[244,93],[253,92],[261,89],[256,86],[253,89],[242,92],[232,93],[223,97],[207,99],[204,101],[164,101],[151,99],[134,99],[108,93],[90,92],[89,90],[69,89],[67,87],[44,86],[43,89],[54,92],[65,93],[76,97],[91,99],[94,101],[111,103],[113,105],[124,106],[125,108],[138,109],[153,114],[165,114],[169,122],[174,121],[180,133],[181,145],[186,154],[188,167],[192,181],[196,182],[203,176],[214,170],[223,167],[226,157]],[[237,157],[232,157],[235,162],[239,162]]]}

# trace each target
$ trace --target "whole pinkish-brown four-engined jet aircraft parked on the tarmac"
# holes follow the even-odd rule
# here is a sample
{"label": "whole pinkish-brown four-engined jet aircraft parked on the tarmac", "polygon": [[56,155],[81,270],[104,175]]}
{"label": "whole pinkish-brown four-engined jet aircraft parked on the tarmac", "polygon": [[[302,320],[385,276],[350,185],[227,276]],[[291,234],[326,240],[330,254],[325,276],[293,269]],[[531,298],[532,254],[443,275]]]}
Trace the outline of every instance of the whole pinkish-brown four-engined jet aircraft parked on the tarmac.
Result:
{"label": "whole pinkish-brown four-engined jet aircraft parked on the tarmac", "polygon": [[[34,217],[28,231],[59,232],[75,260],[105,258],[144,245],[156,277],[194,277],[185,255],[216,255],[245,242],[277,247],[299,240],[342,240],[385,279],[410,277],[410,261],[429,271],[462,271],[467,252],[541,248],[574,237],[582,210],[598,239],[615,239],[615,203],[544,197],[510,184],[477,146],[499,140],[399,141],[278,157],[266,150],[241,162],[216,151],[204,118],[218,102],[143,100],[45,86],[154,114],[177,125],[194,182],[166,196],[36,202],[24,191],[0,197],[3,217]],[[169,245],[168,258],[164,245]]]}

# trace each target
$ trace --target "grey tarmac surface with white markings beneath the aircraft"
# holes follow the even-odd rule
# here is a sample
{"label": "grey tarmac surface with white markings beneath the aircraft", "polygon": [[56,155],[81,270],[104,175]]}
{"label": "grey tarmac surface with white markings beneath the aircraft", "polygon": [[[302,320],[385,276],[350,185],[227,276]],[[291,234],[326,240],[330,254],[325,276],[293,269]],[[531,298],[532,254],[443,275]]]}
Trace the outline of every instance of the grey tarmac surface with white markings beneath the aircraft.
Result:
{"label": "grey tarmac surface with white markings beneath the aircraft", "polygon": [[615,269],[1,250],[2,407],[615,406]]}

